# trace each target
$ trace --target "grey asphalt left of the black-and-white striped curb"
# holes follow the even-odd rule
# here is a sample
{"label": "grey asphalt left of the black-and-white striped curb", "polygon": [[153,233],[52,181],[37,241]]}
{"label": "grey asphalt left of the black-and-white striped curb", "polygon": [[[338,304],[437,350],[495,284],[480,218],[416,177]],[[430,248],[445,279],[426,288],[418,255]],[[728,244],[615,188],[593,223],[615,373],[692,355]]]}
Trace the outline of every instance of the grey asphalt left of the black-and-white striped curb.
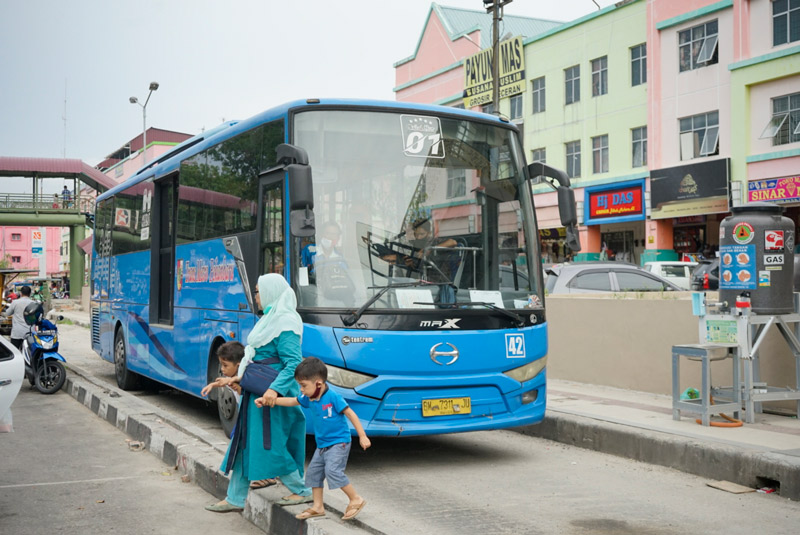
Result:
{"label": "grey asphalt left of the black-and-white striped curb", "polygon": [[263,533],[239,514],[203,510],[200,487],[65,392],[23,384],[14,432],[0,434],[0,533]]}

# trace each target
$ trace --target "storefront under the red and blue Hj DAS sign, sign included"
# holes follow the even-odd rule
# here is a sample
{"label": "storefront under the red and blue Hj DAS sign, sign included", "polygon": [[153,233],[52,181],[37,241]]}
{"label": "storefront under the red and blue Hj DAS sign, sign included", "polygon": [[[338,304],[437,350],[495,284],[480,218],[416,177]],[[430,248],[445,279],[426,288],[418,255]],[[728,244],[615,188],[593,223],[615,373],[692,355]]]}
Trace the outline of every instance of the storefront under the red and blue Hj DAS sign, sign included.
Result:
{"label": "storefront under the red and blue Hj DAS sign, sign included", "polygon": [[600,259],[638,263],[644,250],[644,179],[584,189],[584,225],[599,227]]}

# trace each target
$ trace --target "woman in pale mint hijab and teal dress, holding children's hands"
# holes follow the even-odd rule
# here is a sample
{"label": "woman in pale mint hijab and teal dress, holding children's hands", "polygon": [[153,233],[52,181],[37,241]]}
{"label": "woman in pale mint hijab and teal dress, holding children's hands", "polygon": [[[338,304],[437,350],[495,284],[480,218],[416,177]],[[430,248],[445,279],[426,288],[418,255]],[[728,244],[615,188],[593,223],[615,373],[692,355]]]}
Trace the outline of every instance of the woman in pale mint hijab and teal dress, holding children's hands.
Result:
{"label": "woman in pale mint hijab and teal dress, holding children's hands", "polygon": [[[238,376],[250,362],[273,359],[270,364],[278,375],[272,382],[266,397],[296,397],[300,394],[294,380],[294,370],[303,360],[300,340],[303,322],[295,310],[297,299],[281,275],[270,273],[258,278],[255,292],[256,305],[264,315],[258,320],[247,337],[244,358],[239,365]],[[279,505],[296,505],[312,501],[311,489],[303,480],[305,461],[306,422],[300,407],[273,407],[268,409],[269,419],[265,424],[264,412],[255,405],[257,396],[243,396],[237,427],[245,429],[238,447],[231,440],[221,470],[231,469],[228,493],[224,500],[206,507],[209,511],[228,513],[244,509],[250,481],[280,477],[292,494],[278,502]],[[244,421],[243,421],[244,420]],[[269,432],[264,433],[266,425]],[[265,436],[270,447],[265,448]],[[231,451],[233,449],[233,451]],[[230,460],[229,457],[233,456]]]}

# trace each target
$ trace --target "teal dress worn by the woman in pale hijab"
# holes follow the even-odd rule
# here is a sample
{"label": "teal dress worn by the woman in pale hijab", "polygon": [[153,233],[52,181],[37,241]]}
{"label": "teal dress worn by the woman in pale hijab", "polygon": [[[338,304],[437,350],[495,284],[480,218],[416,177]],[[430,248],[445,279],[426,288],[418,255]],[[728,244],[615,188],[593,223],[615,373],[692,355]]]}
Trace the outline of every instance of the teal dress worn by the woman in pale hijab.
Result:
{"label": "teal dress worn by the woman in pale hijab", "polygon": [[[284,331],[270,343],[256,348],[254,361],[278,357],[280,363],[271,366],[279,371],[278,377],[272,383],[272,390],[282,397],[297,397],[300,387],[294,380],[294,370],[303,360],[300,352],[300,337],[291,332]],[[249,481],[268,479],[286,474],[295,470],[303,475],[303,463],[306,456],[306,419],[300,407],[272,407],[270,418],[270,431],[272,434],[272,448],[264,449],[263,443],[263,415],[261,409],[256,407],[255,396],[249,397],[247,410],[247,436],[244,437],[244,446],[237,455],[242,456],[242,475]],[[231,447],[222,460],[221,470],[225,470]],[[235,466],[235,465],[234,465]],[[234,468],[235,470],[235,468]]]}

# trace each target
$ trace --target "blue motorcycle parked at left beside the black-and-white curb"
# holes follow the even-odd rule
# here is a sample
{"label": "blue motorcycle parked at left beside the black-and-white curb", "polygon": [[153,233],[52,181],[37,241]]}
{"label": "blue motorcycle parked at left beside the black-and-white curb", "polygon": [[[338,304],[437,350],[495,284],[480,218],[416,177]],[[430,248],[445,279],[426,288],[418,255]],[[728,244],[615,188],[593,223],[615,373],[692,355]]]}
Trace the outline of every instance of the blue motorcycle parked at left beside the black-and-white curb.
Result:
{"label": "blue motorcycle parked at left beside the black-and-white curb", "polygon": [[34,302],[25,307],[25,323],[30,325],[30,332],[22,341],[25,377],[42,394],[54,394],[67,380],[63,364],[66,359],[58,353],[58,328],[43,318],[42,313],[41,303]]}

